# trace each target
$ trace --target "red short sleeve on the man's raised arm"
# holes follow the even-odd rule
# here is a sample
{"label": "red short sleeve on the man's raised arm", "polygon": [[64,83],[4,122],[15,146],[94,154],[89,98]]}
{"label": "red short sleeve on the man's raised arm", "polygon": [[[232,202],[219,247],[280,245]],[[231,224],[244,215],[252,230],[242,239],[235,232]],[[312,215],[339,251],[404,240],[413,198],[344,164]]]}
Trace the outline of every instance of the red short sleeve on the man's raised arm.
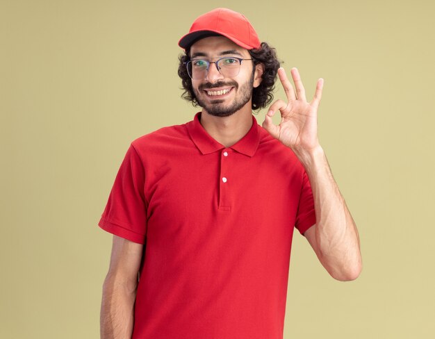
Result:
{"label": "red short sleeve on the man's raised arm", "polygon": [[295,227],[303,235],[307,229],[315,224],[315,211],[313,191],[308,179],[308,174],[304,170],[302,177],[302,189],[299,197],[299,205],[297,207]]}

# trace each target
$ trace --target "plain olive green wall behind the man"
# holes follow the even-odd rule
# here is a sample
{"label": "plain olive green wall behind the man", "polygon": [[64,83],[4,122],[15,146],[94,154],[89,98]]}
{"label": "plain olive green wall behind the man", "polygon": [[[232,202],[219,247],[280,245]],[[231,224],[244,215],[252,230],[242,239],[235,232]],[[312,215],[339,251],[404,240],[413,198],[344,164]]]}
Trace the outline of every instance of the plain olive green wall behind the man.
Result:
{"label": "plain olive green wall behind the man", "polygon": [[177,42],[217,6],[310,97],[325,78],[320,142],[361,235],[363,272],[343,283],[295,233],[284,338],[433,338],[433,2],[262,2],[0,1],[1,338],[99,336],[97,222],[129,143],[197,111]]}

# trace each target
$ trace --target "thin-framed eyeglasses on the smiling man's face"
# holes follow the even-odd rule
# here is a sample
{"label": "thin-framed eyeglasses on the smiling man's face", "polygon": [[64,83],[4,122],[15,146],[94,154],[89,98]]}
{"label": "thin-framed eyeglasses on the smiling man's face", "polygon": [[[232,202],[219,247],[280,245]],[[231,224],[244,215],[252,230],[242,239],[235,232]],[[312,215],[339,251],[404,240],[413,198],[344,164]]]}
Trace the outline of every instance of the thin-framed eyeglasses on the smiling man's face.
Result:
{"label": "thin-framed eyeglasses on the smiling man's face", "polygon": [[253,59],[243,59],[236,58],[234,56],[226,56],[224,58],[219,58],[216,61],[207,61],[204,59],[192,59],[187,61],[186,67],[188,69],[188,74],[192,79],[203,79],[208,74],[208,68],[210,64],[214,63],[216,65],[217,71],[219,71],[225,78],[232,78],[237,76],[240,72],[240,65],[242,65],[242,60],[253,60]]}

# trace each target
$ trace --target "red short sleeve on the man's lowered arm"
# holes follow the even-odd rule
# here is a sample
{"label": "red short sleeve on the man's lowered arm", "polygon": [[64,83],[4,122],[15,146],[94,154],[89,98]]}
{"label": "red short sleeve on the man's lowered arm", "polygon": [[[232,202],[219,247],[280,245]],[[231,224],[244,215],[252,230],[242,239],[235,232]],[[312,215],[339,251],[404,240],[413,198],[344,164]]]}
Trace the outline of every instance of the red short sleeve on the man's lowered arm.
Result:
{"label": "red short sleeve on the man's lowered arm", "polygon": [[147,231],[144,189],[145,169],[136,149],[130,144],[98,226],[121,238],[144,244]]}

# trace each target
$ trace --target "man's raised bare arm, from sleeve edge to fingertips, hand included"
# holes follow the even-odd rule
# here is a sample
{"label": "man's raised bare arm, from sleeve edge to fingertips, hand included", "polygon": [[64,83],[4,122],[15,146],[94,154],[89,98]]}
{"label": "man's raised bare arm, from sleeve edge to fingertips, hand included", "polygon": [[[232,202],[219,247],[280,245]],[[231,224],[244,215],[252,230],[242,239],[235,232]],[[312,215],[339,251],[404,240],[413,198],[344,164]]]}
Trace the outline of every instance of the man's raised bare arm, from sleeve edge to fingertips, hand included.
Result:
{"label": "man's raised bare arm, from sleeve edge to fingertips, hand included", "polygon": [[[316,223],[304,235],[320,263],[335,279],[354,280],[362,269],[358,231],[318,141],[317,112],[323,79],[318,79],[314,98],[308,102],[296,68],[291,69],[296,91],[283,68],[278,70],[278,75],[287,102],[277,100],[270,106],[263,127],[293,150],[308,174]],[[272,116],[277,110],[281,113],[281,123],[275,126]]]}

